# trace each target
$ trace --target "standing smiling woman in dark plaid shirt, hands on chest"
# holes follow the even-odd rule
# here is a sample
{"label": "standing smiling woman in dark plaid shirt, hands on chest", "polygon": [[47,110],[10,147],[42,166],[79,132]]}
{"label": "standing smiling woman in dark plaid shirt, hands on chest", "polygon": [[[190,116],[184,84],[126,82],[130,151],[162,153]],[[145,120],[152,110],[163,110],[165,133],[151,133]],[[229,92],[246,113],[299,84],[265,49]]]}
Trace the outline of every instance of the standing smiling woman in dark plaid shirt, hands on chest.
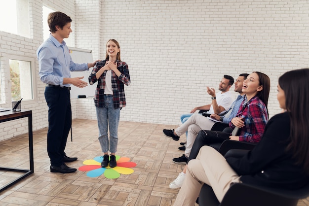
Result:
{"label": "standing smiling woman in dark plaid shirt, hands on chest", "polygon": [[[118,124],[120,109],[125,106],[124,84],[130,85],[128,65],[120,60],[120,46],[115,39],[106,44],[106,58],[97,62],[88,78],[90,85],[98,81],[95,90],[94,104],[96,107],[99,142],[104,153],[102,168],[114,168],[115,153],[118,144]],[[108,128],[110,139],[108,137]],[[109,157],[109,152],[111,157]]]}

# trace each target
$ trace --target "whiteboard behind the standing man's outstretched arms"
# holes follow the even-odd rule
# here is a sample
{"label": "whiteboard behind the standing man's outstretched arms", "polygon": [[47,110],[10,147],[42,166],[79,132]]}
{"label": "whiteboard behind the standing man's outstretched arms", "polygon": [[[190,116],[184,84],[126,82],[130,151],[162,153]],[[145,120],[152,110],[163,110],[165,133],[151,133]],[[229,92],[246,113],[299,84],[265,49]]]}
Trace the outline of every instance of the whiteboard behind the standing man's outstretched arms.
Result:
{"label": "whiteboard behind the standing man's outstretched arms", "polygon": [[[82,63],[92,63],[93,57],[92,57],[92,51],[87,49],[78,49],[78,48],[72,48],[68,47],[70,50],[70,55],[72,57],[73,62],[82,64]],[[93,85],[90,85],[88,82],[88,77],[91,73],[92,68],[89,69],[89,71],[73,71],[71,72],[71,77],[81,77],[83,81],[88,83],[88,86],[84,88],[78,88],[74,85],[71,85],[71,99],[77,99],[78,95],[85,95],[88,97],[93,97],[95,88],[97,87],[97,82]]]}

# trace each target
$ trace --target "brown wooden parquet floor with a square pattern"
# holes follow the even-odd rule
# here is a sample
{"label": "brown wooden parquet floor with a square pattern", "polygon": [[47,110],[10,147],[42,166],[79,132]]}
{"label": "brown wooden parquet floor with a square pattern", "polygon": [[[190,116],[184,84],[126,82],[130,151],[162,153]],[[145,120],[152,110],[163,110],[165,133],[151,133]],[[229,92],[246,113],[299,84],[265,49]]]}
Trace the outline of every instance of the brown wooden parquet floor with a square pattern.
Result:
{"label": "brown wooden parquet floor with a square pattern", "polygon": [[[120,122],[117,155],[137,163],[131,174],[117,179],[104,175],[88,177],[86,172],[51,173],[46,151],[47,128],[34,131],[35,172],[0,193],[0,206],[172,206],[178,194],[169,189],[184,165],[172,158],[179,157],[181,140],[174,141],[162,134],[171,125]],[[73,141],[70,135],[66,153],[78,160],[67,165],[83,166],[84,160],[101,156],[97,122],[73,120]],[[29,169],[28,134],[0,142],[0,166]],[[0,186],[10,182],[17,172],[0,171]],[[197,206],[197,204],[195,204]],[[309,198],[298,206],[309,206]]]}

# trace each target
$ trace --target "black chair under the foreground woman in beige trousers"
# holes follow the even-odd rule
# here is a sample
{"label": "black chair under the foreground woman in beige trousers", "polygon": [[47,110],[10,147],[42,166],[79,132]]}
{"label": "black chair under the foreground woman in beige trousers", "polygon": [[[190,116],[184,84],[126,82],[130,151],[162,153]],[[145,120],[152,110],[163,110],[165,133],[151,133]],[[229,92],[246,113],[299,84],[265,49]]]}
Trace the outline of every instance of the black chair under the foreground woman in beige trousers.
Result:
{"label": "black chair under the foreground woman in beige trousers", "polygon": [[307,198],[309,185],[298,190],[281,190],[234,183],[221,203],[212,188],[204,184],[199,193],[199,206],[297,206],[298,200]]}

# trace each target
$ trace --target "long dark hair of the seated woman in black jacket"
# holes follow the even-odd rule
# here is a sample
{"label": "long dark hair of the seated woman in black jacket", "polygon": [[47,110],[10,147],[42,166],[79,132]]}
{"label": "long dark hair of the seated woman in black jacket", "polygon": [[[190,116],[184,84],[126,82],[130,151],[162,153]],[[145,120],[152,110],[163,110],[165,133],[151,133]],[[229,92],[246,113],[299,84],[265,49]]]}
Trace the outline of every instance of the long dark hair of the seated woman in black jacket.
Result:
{"label": "long dark hair of the seated woman in black jacket", "polygon": [[309,69],[287,71],[278,83],[284,91],[291,121],[287,150],[292,151],[296,164],[303,164],[304,171],[309,173]]}

